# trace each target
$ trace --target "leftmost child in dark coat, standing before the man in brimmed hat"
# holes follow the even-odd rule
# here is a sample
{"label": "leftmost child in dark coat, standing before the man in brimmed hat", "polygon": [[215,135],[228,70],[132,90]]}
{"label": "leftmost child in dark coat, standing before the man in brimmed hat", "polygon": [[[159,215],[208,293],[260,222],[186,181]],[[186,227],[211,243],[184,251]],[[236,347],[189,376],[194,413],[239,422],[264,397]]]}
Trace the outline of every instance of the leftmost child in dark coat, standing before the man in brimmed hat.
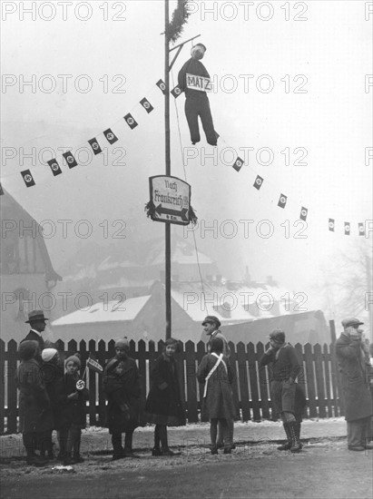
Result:
{"label": "leftmost child in dark coat, standing before the man in brimmed hat", "polygon": [[36,341],[25,340],[18,347],[21,364],[17,367],[15,382],[19,389],[19,427],[26,450],[27,465],[43,466],[47,463],[35,450],[42,437],[53,427],[52,410],[44,386],[42,371],[37,361],[40,356]]}

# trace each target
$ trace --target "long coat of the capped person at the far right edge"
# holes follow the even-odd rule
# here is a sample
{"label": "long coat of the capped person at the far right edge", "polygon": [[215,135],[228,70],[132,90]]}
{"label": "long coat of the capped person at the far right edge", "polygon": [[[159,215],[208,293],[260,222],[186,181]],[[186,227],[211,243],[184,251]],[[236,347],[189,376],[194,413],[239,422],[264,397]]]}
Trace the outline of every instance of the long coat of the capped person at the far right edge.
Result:
{"label": "long coat of the capped person at the far right edge", "polygon": [[342,333],[336,342],[336,356],[345,399],[345,417],[354,421],[371,416],[372,397],[368,384],[369,358],[358,340]]}

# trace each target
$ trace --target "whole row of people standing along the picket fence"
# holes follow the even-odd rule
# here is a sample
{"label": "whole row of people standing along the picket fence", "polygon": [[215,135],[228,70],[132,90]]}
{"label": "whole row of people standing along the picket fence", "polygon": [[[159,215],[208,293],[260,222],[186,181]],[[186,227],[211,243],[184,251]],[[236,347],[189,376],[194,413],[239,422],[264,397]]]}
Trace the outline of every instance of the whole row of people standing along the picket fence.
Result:
{"label": "whole row of people standing along the picket fence", "polygon": [[[43,466],[56,458],[63,465],[83,462],[81,433],[86,426],[86,400],[89,391],[80,377],[81,357],[74,353],[65,359],[52,344],[44,343],[45,321],[42,310],[33,310],[26,321],[31,331],[19,345],[20,365],[16,383],[20,391],[19,421],[26,462]],[[343,332],[336,343],[348,422],[348,449],[373,448],[371,439],[372,395],[369,351],[362,341],[362,323],[357,318],[342,322]],[[219,449],[231,454],[234,421],[238,419],[233,402],[230,348],[221,334],[219,318],[207,316],[202,326],[208,335],[208,353],[202,357],[197,379],[203,387],[202,419],[210,421],[211,454]],[[285,332],[270,333],[270,347],[260,358],[260,366],[271,366],[270,397],[275,414],[283,424],[286,442],[279,450],[298,453],[302,449],[300,426],[306,397],[297,377],[302,364]],[[167,427],[186,424],[177,360],[180,342],[168,338],[160,357],[153,362],[151,386],[142,406],[141,375],[129,356],[127,338],[115,342],[115,356],[103,368],[103,392],[107,399],[106,426],[112,435],[113,460],[139,457],[133,453],[133,432],[138,426],[154,425],[153,456],[173,452],[168,444]],[[370,389],[369,389],[370,384]],[[57,432],[59,454],[54,456],[53,431]],[[124,446],[123,446],[124,434]]]}

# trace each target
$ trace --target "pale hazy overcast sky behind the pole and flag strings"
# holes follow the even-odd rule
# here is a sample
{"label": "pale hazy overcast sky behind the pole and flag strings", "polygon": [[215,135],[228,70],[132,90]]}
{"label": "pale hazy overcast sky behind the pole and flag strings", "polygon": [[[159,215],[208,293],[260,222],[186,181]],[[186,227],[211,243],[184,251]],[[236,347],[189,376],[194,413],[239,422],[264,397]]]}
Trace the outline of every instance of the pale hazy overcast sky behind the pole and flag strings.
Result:
{"label": "pale hazy overcast sky behind the pole and flag strings", "polygon": [[[136,220],[136,234],[125,231],[123,245],[130,245],[133,237],[162,236],[163,224],[147,219],[143,207],[149,201],[148,177],[164,173],[163,98],[154,86],[163,78],[163,2],[117,2],[115,9],[111,2],[91,2],[92,17],[85,22],[76,18],[74,9],[67,11],[66,20],[62,9],[49,22],[38,13],[36,20],[26,14],[22,20],[19,3],[4,2],[3,9],[4,4],[17,10],[7,15],[3,11],[2,184],[36,220],[54,221],[56,234],[46,240],[54,267],[62,266],[82,241],[108,244],[111,238],[104,239],[100,227],[103,220],[109,220],[109,227],[113,220]],[[260,2],[249,11],[242,2],[215,4],[219,6],[212,15],[203,13],[203,8],[213,8],[213,2],[192,3],[195,12],[177,43],[201,34],[198,41],[207,46],[203,64],[217,83],[210,103],[221,134],[218,161],[204,158],[213,148],[203,133],[201,142],[191,148],[184,97],[176,100],[179,120],[172,97],[172,175],[185,178],[184,161],[191,205],[200,222],[195,230],[198,248],[217,260],[225,277],[240,279],[249,266],[253,279],[271,275],[291,291],[307,292],[310,308],[319,306],[315,285],[325,277],[335,255],[356,247],[361,239],[358,222],[372,219],[372,160],[366,161],[365,156],[372,147],[373,87],[366,87],[366,75],[373,73],[373,15],[366,20],[367,3],[360,1],[300,2],[298,7],[290,2],[286,21],[281,5],[288,3],[271,2],[267,4],[273,16],[263,21],[257,13],[269,17],[270,11],[266,6],[258,11]],[[171,2],[171,12],[175,5]],[[109,20],[104,21],[106,14]],[[111,21],[115,14],[125,19]],[[81,15],[85,15],[83,7]],[[306,20],[296,21],[296,15]],[[175,82],[190,48],[186,44],[173,67]],[[19,86],[23,77],[29,81],[33,74],[34,92],[30,86]],[[51,93],[38,85],[45,74],[56,82]],[[73,75],[67,89],[58,74]],[[74,86],[82,74],[93,84],[88,93]],[[4,86],[5,75],[7,83],[15,84]],[[115,75],[119,76],[113,81]],[[258,83],[261,75],[270,78]],[[42,82],[47,88],[47,80]],[[268,82],[274,86],[267,93]],[[125,93],[113,93],[119,84]],[[305,93],[295,93],[297,88]],[[154,107],[149,115],[138,104],[144,96]],[[139,122],[133,131],[123,121],[129,112]],[[178,123],[182,148],[190,149],[181,149]],[[109,127],[120,138],[114,146],[100,135]],[[62,165],[63,174],[57,177],[40,161],[51,159],[44,148],[76,151],[88,147],[86,141],[94,136],[104,147],[107,144],[107,160],[99,155],[70,171]],[[36,161],[25,159],[22,164],[22,147],[26,153],[34,148]],[[239,148],[254,150],[237,172],[231,168],[234,154],[226,148],[233,148],[243,159]],[[271,164],[260,164],[268,161],[265,151],[258,161],[260,148],[273,152]],[[15,158],[9,159],[13,153]],[[56,158],[62,164],[61,152]],[[113,160],[122,164],[112,164]],[[294,164],[296,160],[307,164]],[[26,189],[19,171],[28,168],[36,185]],[[260,191],[252,187],[257,174],[264,179]],[[285,210],[277,206],[280,193],[288,196]],[[308,227],[302,232],[304,239],[296,239],[300,226],[293,224],[302,205],[309,209]],[[335,233],[328,230],[329,218],[336,219]],[[77,237],[73,223],[64,239],[57,220],[90,220],[93,235],[88,240]],[[208,226],[218,220],[218,232],[203,232],[204,220]],[[249,235],[244,230],[247,222],[240,220],[254,220]],[[272,224],[269,239],[255,230],[260,220]],[[285,220],[290,220],[289,238]],[[343,233],[344,221],[351,222],[349,237]],[[172,230],[187,236],[191,228]],[[231,230],[237,230],[234,237]],[[189,238],[192,242],[191,234]]]}

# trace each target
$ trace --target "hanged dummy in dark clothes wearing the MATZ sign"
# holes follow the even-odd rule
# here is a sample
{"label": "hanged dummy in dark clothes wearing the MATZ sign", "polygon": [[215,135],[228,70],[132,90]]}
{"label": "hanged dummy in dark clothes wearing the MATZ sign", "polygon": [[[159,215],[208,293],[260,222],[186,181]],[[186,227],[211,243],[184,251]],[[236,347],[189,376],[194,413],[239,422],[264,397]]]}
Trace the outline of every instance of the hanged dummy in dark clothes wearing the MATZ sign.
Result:
{"label": "hanged dummy in dark clothes wearing the MATZ sign", "polygon": [[191,75],[193,81],[202,78],[209,78],[210,74],[200,62],[206,52],[203,44],[196,44],[191,48],[191,59],[183,66],[178,75],[178,83],[182,92],[185,92],[185,115],[187,118],[189,130],[191,132],[191,143],[201,141],[198,117],[200,116],[203,130],[206,134],[206,140],[211,145],[217,145],[218,134],[215,132],[212,122],[210,103],[207,93],[199,90],[194,85],[188,86],[187,74]]}

